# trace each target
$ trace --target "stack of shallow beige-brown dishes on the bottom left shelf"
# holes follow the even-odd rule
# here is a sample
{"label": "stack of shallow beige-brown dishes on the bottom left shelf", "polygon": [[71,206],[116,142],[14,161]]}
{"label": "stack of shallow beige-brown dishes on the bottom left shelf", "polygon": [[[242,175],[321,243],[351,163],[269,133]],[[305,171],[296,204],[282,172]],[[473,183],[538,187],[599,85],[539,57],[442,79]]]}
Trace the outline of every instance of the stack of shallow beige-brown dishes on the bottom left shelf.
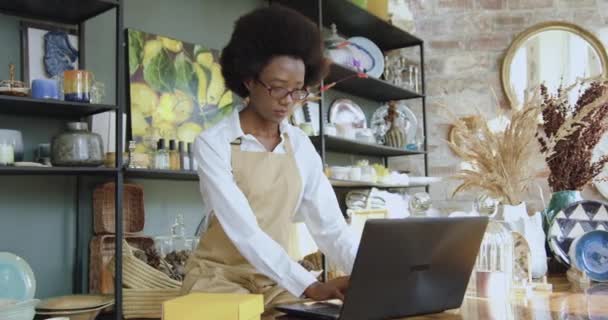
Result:
{"label": "stack of shallow beige-brown dishes on the bottom left shelf", "polygon": [[99,312],[114,304],[111,295],[70,295],[50,298],[36,307],[43,316],[66,316],[70,320],[92,320]]}

